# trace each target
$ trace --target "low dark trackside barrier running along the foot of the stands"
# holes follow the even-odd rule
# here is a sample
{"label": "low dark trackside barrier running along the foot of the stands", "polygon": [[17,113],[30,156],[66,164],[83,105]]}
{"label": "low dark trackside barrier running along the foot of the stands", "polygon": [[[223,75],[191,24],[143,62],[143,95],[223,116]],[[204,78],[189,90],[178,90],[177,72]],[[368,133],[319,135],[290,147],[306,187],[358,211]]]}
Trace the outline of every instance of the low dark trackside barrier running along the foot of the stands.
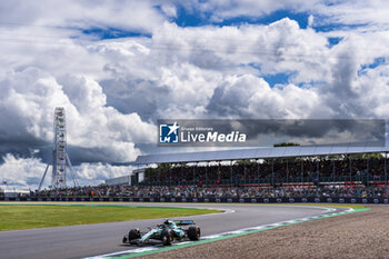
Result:
{"label": "low dark trackside barrier running along the foot of the stands", "polygon": [[388,198],[328,198],[328,197],[295,197],[295,198],[79,198],[79,197],[42,197],[42,198],[8,198],[0,197],[0,201],[122,201],[122,202],[220,202],[220,203],[389,203]]}

